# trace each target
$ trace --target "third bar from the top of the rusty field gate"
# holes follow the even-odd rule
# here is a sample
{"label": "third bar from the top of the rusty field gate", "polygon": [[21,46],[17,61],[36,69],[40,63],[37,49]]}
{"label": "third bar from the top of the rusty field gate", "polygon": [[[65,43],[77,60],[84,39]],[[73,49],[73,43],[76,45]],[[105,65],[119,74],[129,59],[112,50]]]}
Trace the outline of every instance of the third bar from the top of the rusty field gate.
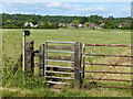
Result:
{"label": "third bar from the top of the rusty field gate", "polygon": [[120,64],[101,64],[101,63],[85,63],[85,65],[102,65],[102,66],[119,66],[119,67],[133,67],[133,65],[120,65]]}

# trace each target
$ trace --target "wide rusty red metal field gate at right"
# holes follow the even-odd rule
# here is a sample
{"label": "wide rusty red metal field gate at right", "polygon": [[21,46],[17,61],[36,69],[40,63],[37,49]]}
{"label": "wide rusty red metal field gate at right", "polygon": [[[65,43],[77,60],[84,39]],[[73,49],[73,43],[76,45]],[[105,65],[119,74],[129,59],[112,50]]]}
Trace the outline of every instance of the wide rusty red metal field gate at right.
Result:
{"label": "wide rusty red metal field gate at right", "polygon": [[83,78],[91,87],[133,89],[133,45],[84,44]]}

